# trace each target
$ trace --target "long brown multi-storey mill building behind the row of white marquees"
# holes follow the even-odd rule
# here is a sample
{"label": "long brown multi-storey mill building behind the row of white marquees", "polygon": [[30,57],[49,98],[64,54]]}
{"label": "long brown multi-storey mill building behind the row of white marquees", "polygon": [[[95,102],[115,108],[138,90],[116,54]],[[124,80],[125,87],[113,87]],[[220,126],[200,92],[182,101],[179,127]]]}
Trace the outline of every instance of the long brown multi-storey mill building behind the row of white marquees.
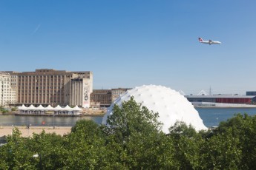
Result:
{"label": "long brown multi-storey mill building behind the row of white marquees", "polygon": [[[92,72],[36,69],[35,72],[9,72],[9,74],[13,77],[13,88],[16,88],[15,104],[18,106],[22,104],[90,106],[90,98],[87,99],[85,96],[86,94],[90,96],[93,91]],[[78,86],[76,82],[82,84]]]}

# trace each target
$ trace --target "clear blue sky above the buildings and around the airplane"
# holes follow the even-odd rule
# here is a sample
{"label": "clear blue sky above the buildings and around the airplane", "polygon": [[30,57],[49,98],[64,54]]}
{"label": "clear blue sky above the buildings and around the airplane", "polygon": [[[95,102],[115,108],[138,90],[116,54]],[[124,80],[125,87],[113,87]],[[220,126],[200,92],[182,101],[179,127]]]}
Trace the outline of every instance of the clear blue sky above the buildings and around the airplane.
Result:
{"label": "clear blue sky above the buildings and around the airplane", "polygon": [[254,0],[0,1],[1,71],[92,71],[93,89],[244,95],[256,91],[255,40]]}

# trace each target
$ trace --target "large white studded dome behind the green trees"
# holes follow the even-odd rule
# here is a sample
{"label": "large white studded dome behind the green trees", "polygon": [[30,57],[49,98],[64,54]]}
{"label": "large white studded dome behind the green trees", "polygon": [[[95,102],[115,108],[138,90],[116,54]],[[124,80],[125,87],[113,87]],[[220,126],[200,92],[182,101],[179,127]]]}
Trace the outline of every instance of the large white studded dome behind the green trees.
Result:
{"label": "large white studded dome behind the green trees", "polygon": [[207,129],[203,124],[194,106],[179,92],[165,86],[143,85],[130,89],[108,107],[102,123],[106,124],[108,115],[112,115],[114,104],[122,106],[122,101],[130,100],[134,96],[137,103],[142,103],[149,110],[159,113],[158,120],[163,123],[163,132],[168,133],[168,128],[177,121],[183,121],[187,125],[191,124],[197,131]]}

